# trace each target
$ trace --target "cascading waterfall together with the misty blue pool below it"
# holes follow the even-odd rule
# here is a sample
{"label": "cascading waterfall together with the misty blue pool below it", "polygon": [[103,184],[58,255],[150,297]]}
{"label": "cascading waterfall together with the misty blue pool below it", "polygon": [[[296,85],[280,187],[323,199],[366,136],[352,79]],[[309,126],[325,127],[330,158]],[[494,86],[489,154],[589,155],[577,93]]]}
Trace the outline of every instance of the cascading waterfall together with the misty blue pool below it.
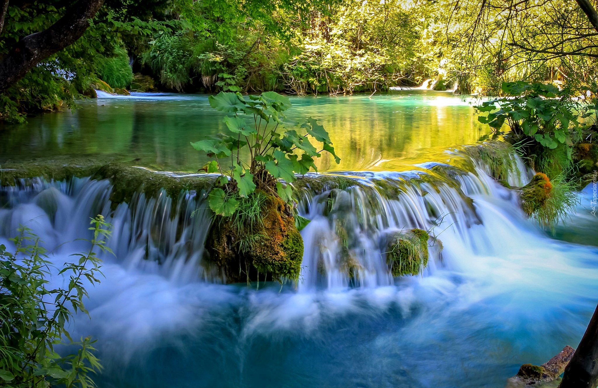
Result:
{"label": "cascading waterfall together with the misty blue pool below it", "polygon": [[[222,284],[203,248],[202,193],[114,207],[107,180],[22,181],[0,192],[0,243],[10,251],[26,225],[60,265],[84,248],[90,217],[112,223],[115,255],[90,289],[91,320],[74,328],[99,339],[100,387],[502,388],[521,363],[581,338],[598,251],[547,237],[491,166],[450,155],[470,168],[347,172],[344,189],[301,189],[296,289]],[[521,160],[505,162],[523,186]],[[392,278],[383,241],[412,228],[435,236],[428,267]]]}

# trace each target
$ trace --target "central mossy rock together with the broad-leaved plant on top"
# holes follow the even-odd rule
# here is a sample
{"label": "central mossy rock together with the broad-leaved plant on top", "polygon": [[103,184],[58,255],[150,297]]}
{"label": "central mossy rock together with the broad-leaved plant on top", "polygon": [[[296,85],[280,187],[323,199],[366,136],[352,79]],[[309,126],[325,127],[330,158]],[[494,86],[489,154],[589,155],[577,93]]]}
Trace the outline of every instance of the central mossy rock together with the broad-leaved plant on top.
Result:
{"label": "central mossy rock together with the broad-leaved plant on top", "polygon": [[[230,87],[229,89],[232,89]],[[314,160],[334,153],[328,132],[311,117],[299,125],[284,113],[291,107],[275,92],[250,95],[221,92],[210,105],[227,116],[229,134],[191,143],[213,160],[218,172],[208,194],[213,223],[206,248],[228,281],[297,281],[303,259],[302,219],[295,210],[295,174],[317,171]],[[322,143],[318,151],[311,141]],[[246,155],[249,154],[249,158]]]}

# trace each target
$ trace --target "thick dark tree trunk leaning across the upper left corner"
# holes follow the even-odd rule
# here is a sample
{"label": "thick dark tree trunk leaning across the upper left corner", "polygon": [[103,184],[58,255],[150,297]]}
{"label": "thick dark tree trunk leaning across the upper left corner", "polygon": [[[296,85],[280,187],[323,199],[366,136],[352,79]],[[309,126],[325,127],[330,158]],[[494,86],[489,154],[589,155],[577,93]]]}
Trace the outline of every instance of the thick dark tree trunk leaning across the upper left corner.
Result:
{"label": "thick dark tree trunk leaning across the upper left corner", "polygon": [[25,77],[33,66],[81,38],[102,3],[80,0],[47,30],[22,38],[0,59],[0,92]]}

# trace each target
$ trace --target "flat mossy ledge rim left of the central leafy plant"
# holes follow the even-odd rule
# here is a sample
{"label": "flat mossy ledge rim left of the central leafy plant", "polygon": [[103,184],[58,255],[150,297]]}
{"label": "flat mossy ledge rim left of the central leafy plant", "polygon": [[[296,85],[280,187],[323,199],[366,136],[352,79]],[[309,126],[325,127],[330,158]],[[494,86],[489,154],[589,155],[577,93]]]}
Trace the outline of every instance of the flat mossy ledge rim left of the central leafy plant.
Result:
{"label": "flat mossy ledge rim left of the central leafy plant", "polygon": [[2,163],[0,165],[0,184],[17,186],[31,184],[33,178],[65,181],[73,177],[90,177],[94,180],[108,179],[112,184],[110,200],[112,207],[122,202],[129,203],[135,193],[145,193],[152,197],[161,189],[172,198],[178,198],[182,190],[209,190],[214,177],[212,175],[179,175],[155,172],[147,168],[131,166],[126,162],[114,160],[77,158],[77,159],[36,159],[30,162]]}

